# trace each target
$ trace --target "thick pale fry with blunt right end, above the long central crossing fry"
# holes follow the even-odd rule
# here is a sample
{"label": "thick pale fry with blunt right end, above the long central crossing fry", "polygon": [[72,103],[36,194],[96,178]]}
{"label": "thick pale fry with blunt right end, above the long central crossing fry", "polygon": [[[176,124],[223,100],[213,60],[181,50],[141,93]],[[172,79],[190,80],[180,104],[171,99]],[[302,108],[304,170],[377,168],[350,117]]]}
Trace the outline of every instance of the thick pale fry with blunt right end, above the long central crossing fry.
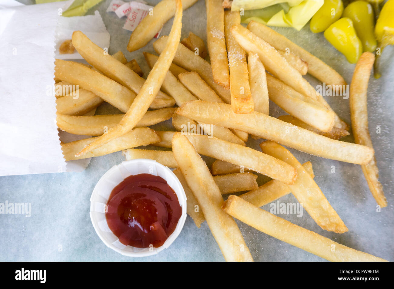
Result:
{"label": "thick pale fry with blunt right end, above the long central crossing fry", "polygon": [[[284,83],[272,75],[267,75],[268,95],[284,111],[312,127],[329,132],[334,127],[335,114],[320,103],[313,104],[300,98],[292,97],[282,87]],[[301,97],[303,97],[301,95]],[[305,98],[305,97],[304,97]]]}

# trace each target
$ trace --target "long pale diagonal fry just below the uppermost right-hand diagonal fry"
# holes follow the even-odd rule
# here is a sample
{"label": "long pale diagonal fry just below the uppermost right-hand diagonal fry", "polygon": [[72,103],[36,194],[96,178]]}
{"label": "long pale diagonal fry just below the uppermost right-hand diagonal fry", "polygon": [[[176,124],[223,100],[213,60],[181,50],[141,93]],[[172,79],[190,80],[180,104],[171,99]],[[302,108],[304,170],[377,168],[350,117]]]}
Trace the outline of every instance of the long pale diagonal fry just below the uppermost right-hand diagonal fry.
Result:
{"label": "long pale diagonal fry just below the uppermost right-hand diagonal fry", "polygon": [[258,54],[261,62],[269,73],[279,78],[299,93],[316,99],[316,90],[277,52],[277,50],[275,50],[275,48],[257,37],[241,24],[234,25],[231,28],[231,33],[245,51],[252,51]]}

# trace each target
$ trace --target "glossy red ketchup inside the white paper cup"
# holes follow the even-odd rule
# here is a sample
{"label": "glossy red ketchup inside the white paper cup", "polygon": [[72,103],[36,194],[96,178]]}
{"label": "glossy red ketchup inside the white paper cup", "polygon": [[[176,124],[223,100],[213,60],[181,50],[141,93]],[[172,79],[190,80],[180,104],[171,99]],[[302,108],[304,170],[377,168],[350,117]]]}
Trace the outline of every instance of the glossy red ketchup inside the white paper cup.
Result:
{"label": "glossy red ketchup inside the white paper cup", "polygon": [[150,174],[132,175],[111,192],[105,213],[108,226],[124,245],[157,248],[174,232],[182,215],[167,182]]}

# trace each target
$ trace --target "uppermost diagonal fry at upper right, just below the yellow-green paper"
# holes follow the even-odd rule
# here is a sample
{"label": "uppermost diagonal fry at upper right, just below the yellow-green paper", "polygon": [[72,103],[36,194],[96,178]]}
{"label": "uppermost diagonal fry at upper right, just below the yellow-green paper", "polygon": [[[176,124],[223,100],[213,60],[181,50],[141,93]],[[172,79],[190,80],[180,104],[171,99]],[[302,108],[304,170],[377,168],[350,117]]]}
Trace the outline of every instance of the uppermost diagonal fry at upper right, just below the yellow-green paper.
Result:
{"label": "uppermost diagonal fry at upper right, just below the yellow-green paper", "polygon": [[326,85],[346,85],[346,81],[343,77],[333,68],[275,30],[253,20],[249,22],[247,28],[255,35],[271,44],[275,49],[283,51],[289,49],[291,53],[306,61],[308,63],[309,74],[325,82]]}

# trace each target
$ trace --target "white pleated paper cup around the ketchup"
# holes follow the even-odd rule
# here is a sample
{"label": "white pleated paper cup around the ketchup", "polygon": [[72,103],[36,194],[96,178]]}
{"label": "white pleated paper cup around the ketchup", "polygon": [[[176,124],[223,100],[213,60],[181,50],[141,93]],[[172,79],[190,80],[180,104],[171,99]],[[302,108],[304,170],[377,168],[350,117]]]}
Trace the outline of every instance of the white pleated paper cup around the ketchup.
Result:
{"label": "white pleated paper cup around the ketchup", "polygon": [[[115,236],[108,227],[105,217],[107,201],[111,191],[120,182],[130,175],[138,175],[141,173],[149,173],[151,175],[162,177],[167,181],[168,185],[175,191],[179,204],[182,208],[182,215],[178,220],[174,232],[165,240],[164,244],[158,248],[136,248],[123,245],[117,236]],[[166,249],[178,237],[186,220],[186,195],[178,178],[171,169],[159,164],[155,160],[138,158],[135,160],[126,160],[119,165],[109,169],[97,182],[92,196],[90,197],[90,219],[97,235],[107,247],[112,250],[130,257],[144,257],[155,255]]]}

